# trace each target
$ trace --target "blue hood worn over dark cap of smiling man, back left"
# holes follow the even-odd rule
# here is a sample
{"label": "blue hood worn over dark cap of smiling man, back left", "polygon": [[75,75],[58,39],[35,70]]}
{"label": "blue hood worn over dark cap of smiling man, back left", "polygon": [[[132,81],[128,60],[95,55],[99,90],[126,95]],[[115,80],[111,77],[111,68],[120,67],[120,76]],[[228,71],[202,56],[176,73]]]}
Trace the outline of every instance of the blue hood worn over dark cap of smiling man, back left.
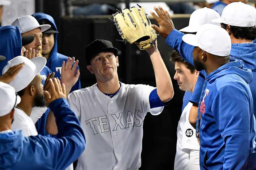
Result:
{"label": "blue hood worn over dark cap of smiling man, back left", "polygon": [[[52,23],[55,30],[58,31],[58,29],[56,27],[56,24],[54,22],[54,19],[50,15],[38,12],[38,13],[33,14],[32,16],[35,17],[35,19],[37,21],[40,21],[42,19],[48,20],[49,22]],[[55,60],[58,59],[58,57],[57,57],[57,36],[58,36],[58,33],[54,33],[54,45],[52,47],[51,54],[50,54],[49,58],[47,59],[47,63],[46,63],[46,66],[49,67],[49,68],[51,68],[52,61],[55,61]]]}

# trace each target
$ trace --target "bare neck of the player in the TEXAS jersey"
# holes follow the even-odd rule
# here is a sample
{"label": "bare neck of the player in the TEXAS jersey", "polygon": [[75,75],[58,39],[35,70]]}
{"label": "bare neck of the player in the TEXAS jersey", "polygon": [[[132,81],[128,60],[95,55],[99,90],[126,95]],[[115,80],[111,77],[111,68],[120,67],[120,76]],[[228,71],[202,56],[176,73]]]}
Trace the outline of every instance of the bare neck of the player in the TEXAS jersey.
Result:
{"label": "bare neck of the player in the TEXAS jersey", "polygon": [[106,82],[97,81],[97,86],[102,93],[114,94],[120,88],[118,76]]}

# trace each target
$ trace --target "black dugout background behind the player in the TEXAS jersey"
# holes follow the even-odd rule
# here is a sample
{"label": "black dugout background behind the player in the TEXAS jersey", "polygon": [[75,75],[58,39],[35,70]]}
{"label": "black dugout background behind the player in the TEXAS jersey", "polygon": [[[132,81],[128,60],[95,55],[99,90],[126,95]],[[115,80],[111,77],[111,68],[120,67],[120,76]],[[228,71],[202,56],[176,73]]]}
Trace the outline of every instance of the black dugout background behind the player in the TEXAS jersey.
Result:
{"label": "black dugout background behind the player in the TEXAS jersey", "polygon": [[[148,84],[156,86],[153,66],[146,51],[141,51],[136,45],[124,44],[116,27],[108,18],[112,16],[61,17],[61,7],[58,1],[36,1],[36,12],[51,15],[59,30],[58,52],[79,60],[82,88],[96,83],[95,76],[86,68],[85,47],[95,39],[106,39],[119,49],[119,80],[126,84]],[[51,4],[45,5],[45,4]],[[177,30],[188,26],[189,15],[172,17]],[[152,24],[156,24],[151,19]],[[177,125],[181,115],[184,92],[179,89],[173,79],[174,65],[169,61],[172,48],[165,44],[165,39],[158,36],[158,49],[170,73],[174,97],[170,104],[158,116],[150,113],[144,119],[142,140],[142,166],[139,170],[173,169],[176,153]]]}

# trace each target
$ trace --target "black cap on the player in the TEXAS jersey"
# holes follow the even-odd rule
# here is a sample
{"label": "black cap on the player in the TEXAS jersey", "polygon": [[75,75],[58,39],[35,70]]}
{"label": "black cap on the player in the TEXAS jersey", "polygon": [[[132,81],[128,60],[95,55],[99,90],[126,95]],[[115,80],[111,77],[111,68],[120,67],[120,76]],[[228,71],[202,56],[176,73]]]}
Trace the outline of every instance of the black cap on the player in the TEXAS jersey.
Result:
{"label": "black cap on the player in the TEXAS jersey", "polygon": [[113,52],[115,55],[118,53],[118,49],[113,47],[112,42],[108,40],[94,40],[85,49],[86,62],[90,65],[91,59],[98,53],[101,52]]}

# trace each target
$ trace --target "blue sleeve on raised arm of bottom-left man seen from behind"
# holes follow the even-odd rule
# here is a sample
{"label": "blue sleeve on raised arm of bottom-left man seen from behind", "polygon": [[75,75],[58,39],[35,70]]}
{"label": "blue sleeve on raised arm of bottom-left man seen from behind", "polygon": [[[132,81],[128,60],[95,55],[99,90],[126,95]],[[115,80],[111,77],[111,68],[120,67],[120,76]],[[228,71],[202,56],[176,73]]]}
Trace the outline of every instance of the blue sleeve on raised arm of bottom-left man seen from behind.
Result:
{"label": "blue sleeve on raised arm of bottom-left man seen from behind", "polygon": [[53,169],[63,170],[85,150],[85,136],[66,99],[56,99],[50,103],[49,108],[56,117],[58,134],[47,146],[52,157],[48,161],[52,161]]}

